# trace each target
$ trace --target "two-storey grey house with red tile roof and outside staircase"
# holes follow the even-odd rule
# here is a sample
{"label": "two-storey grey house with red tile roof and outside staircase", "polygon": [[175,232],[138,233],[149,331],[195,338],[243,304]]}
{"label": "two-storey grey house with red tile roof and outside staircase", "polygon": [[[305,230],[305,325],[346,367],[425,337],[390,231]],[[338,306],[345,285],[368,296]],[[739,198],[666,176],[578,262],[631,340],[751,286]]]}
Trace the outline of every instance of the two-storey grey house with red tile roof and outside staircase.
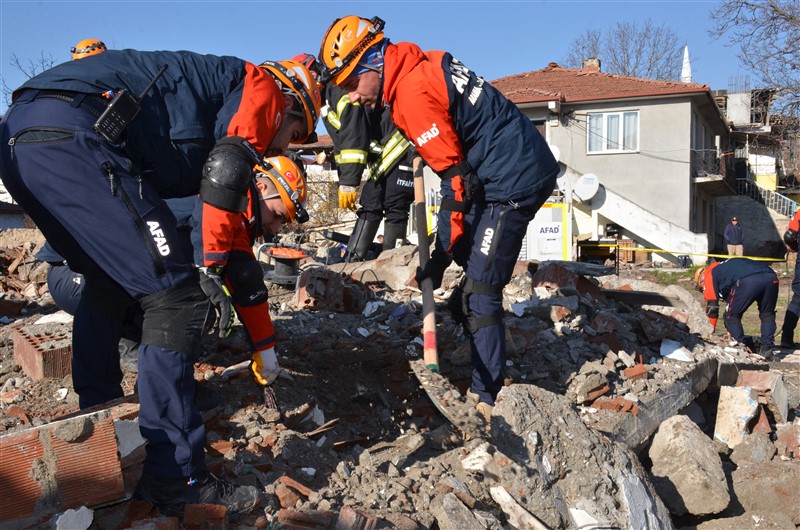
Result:
{"label": "two-storey grey house with red tile roof and outside staircase", "polygon": [[570,240],[613,232],[665,251],[653,253],[656,261],[681,254],[706,260],[723,228],[715,198],[735,189],[721,163],[730,129],[707,85],[606,74],[596,59],[582,69],[550,63],[491,83],[564,164],[559,187]]}

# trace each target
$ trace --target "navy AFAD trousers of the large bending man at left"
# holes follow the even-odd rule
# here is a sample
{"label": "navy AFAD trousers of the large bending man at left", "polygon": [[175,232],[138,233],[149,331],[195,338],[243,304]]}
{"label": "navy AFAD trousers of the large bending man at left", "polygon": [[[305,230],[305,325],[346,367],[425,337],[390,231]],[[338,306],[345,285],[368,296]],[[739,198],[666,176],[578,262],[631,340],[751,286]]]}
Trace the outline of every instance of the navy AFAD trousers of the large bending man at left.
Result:
{"label": "navy AFAD trousers of the large bending man at left", "polygon": [[[124,146],[94,132],[96,116],[25,95],[0,122],[0,175],[48,242],[86,279],[73,325],[73,379],[85,408],[122,394],[121,325],[109,307],[127,308],[197,282],[196,272],[175,216],[137,177]],[[175,333],[199,336],[200,330]],[[148,441],[145,470],[153,475],[188,477],[204,467],[193,364],[186,353],[140,346],[139,420]]]}

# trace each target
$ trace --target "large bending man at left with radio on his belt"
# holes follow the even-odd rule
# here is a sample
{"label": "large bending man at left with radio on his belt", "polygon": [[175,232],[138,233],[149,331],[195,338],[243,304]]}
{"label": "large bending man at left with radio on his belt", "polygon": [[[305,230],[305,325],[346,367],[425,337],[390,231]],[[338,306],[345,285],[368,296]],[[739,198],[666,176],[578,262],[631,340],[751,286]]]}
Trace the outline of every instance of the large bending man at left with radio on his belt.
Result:
{"label": "large bending man at left with radio on his belt", "polygon": [[88,289],[102,283],[105,296],[144,311],[138,391],[148,443],[136,496],[162,512],[216,503],[236,515],[259,501],[256,488],[205,467],[193,365],[209,299],[229,300],[215,295],[213,281],[210,296],[201,289],[164,199],[199,192],[218,208],[244,211],[255,164],[305,141],[319,107],[299,63],[260,68],[187,51],[106,50],[26,81],[0,122],[3,183],[87,279],[73,324],[81,408],[122,395],[117,359],[109,359],[119,337],[75,342],[87,324],[111,319]]}

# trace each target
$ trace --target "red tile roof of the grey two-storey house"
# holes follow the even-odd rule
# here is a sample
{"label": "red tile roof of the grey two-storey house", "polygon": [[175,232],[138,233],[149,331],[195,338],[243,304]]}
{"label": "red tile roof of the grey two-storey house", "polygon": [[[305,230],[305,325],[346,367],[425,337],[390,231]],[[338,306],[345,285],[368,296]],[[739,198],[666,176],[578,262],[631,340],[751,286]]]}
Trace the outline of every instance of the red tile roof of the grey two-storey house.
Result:
{"label": "red tile roof of the grey two-storey house", "polygon": [[590,69],[562,68],[556,63],[534,72],[491,81],[492,86],[517,105],[559,100],[578,103],[606,99],[668,96],[709,92],[708,85],[657,81]]}

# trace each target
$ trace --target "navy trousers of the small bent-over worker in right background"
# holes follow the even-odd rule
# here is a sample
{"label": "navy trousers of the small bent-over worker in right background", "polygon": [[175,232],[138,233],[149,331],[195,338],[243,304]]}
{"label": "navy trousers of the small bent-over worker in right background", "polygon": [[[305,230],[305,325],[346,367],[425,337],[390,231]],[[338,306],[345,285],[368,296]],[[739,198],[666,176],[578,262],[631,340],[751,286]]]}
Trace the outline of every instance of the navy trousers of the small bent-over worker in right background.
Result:
{"label": "navy trousers of the small bent-over worker in right background", "polygon": [[728,295],[728,307],[723,320],[731,337],[744,343],[742,315],[756,303],[761,319],[761,346],[775,346],[775,304],[778,301],[778,277],[774,272],[763,272],[741,278]]}

